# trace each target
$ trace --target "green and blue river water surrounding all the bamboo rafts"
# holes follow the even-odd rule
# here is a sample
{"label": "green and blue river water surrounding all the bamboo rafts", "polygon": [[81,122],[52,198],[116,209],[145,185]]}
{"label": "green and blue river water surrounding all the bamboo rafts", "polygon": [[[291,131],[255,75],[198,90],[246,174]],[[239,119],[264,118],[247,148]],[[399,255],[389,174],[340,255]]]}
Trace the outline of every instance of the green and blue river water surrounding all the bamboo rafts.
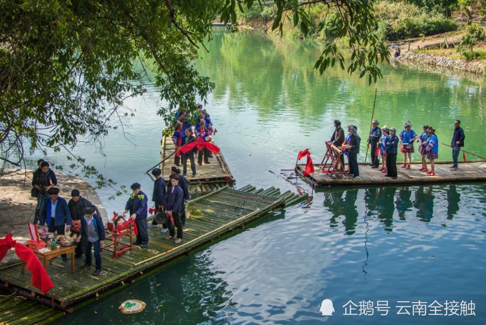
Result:
{"label": "green and blue river water surrounding all the bamboo rafts", "polygon": [[[312,71],[315,46],[216,30],[208,47],[197,67],[216,83],[206,108],[237,187],[296,191],[277,175],[291,175],[283,169],[293,168],[299,150],[309,148],[319,161],[336,118],[365,137],[374,87],[338,69]],[[419,132],[428,123],[450,143],[458,118],[465,149],[486,156],[483,77],[403,63],[382,69],[380,126],[400,129],[411,120]],[[75,152],[120,185],[138,181],[150,194],[143,172],[160,159],[161,103],[149,88],[126,104],[137,110],[127,128],[136,146],[115,130],[104,143],[106,158],[93,147]],[[449,149],[440,147],[439,160],[451,159]],[[48,159],[63,163],[59,155]],[[108,200],[109,189],[99,194],[110,214],[122,211],[126,198]],[[310,204],[278,210],[58,324],[486,324],[485,194],[485,183],[318,190]],[[144,312],[120,314],[127,298],[145,301]],[[332,300],[333,316],[319,314],[323,299]],[[360,302],[367,315],[344,315],[359,314]],[[468,312],[476,316],[454,315]]]}

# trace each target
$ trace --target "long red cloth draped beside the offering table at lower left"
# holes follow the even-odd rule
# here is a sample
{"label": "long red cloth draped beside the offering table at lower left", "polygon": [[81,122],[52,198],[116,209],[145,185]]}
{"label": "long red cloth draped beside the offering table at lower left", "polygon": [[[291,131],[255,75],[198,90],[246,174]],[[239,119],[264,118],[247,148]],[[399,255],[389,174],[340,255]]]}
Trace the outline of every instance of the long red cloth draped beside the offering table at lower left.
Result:
{"label": "long red cloth draped beside the offering table at lower left", "polygon": [[15,254],[27,264],[27,270],[32,273],[31,283],[34,287],[41,290],[43,294],[54,287],[54,283],[34,252],[13,240],[11,233],[0,239],[0,262],[10,248],[15,248]]}

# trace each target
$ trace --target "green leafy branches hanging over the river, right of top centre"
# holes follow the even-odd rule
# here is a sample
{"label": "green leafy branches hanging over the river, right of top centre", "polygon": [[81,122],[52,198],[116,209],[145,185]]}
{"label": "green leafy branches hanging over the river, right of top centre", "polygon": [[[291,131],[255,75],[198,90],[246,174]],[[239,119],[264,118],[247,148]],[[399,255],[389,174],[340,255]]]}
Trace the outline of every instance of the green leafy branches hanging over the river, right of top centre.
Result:
{"label": "green leafy branches hanging over the river, right of top centre", "polygon": [[[260,0],[225,0],[221,20],[224,22],[238,23],[237,10],[244,12],[244,7],[250,9],[253,5],[262,5]],[[314,69],[321,74],[329,66],[336,63],[343,70],[352,74],[359,71],[359,77],[368,77],[368,83],[376,82],[382,77],[378,62],[389,62],[390,53],[378,39],[376,34],[376,19],[374,17],[374,0],[274,0],[277,10],[273,18],[272,30],[278,30],[280,35],[284,31],[284,22],[288,20],[294,27],[300,28],[306,36],[314,26],[314,21],[309,17],[309,6],[324,5],[329,12],[337,14],[325,15],[316,23],[315,33],[325,29],[326,33],[332,35],[324,45],[322,54],[317,59]],[[338,49],[337,41],[346,38],[352,49],[351,58],[347,61],[341,50]],[[347,65],[347,67],[345,66]]]}

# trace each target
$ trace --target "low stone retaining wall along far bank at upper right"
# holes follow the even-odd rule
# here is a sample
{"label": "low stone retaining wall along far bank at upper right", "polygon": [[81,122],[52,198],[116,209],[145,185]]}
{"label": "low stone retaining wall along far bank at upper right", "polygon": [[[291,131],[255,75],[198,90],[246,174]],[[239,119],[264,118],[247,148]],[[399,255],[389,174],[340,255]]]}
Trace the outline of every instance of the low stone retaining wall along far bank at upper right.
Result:
{"label": "low stone retaining wall along far bank at upper right", "polygon": [[485,74],[486,72],[486,67],[485,64],[475,61],[466,61],[466,60],[461,60],[461,59],[456,59],[453,60],[449,57],[445,56],[436,56],[433,54],[425,54],[425,53],[413,53],[413,52],[407,52],[403,55],[400,55],[398,57],[398,60],[406,60],[406,61],[412,61],[415,63],[422,63],[422,64],[430,64],[434,66],[442,66],[442,67],[447,67],[451,69],[458,69],[462,71],[468,71],[468,72],[474,72],[474,73],[480,73],[480,74]]}

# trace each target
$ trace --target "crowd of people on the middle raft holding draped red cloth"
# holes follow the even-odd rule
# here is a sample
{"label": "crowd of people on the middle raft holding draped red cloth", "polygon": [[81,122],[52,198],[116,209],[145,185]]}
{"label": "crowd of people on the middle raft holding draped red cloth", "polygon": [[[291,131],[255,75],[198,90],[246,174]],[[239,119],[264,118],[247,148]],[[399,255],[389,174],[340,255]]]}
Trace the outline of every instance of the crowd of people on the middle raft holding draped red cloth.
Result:
{"label": "crowd of people on the middle raft holding draped red cloth", "polygon": [[[176,113],[175,122],[176,129],[172,136],[172,142],[176,146],[176,151],[179,150],[183,145],[201,139],[203,142],[211,142],[212,136],[217,132],[213,128],[213,123],[211,122],[211,117],[205,108],[201,104],[197,104],[197,114],[195,116],[196,123],[191,124],[189,122],[189,116],[186,112],[181,111]],[[212,157],[211,152],[204,148],[203,150],[197,151],[197,148],[193,148],[187,153],[182,153],[182,165],[183,175],[187,174],[187,161],[190,162],[192,177],[196,176],[196,164],[194,162],[194,154],[197,153],[197,163],[202,165],[204,163],[210,163],[209,157]],[[174,164],[177,166],[181,165],[181,158],[176,155],[174,158]]]}

